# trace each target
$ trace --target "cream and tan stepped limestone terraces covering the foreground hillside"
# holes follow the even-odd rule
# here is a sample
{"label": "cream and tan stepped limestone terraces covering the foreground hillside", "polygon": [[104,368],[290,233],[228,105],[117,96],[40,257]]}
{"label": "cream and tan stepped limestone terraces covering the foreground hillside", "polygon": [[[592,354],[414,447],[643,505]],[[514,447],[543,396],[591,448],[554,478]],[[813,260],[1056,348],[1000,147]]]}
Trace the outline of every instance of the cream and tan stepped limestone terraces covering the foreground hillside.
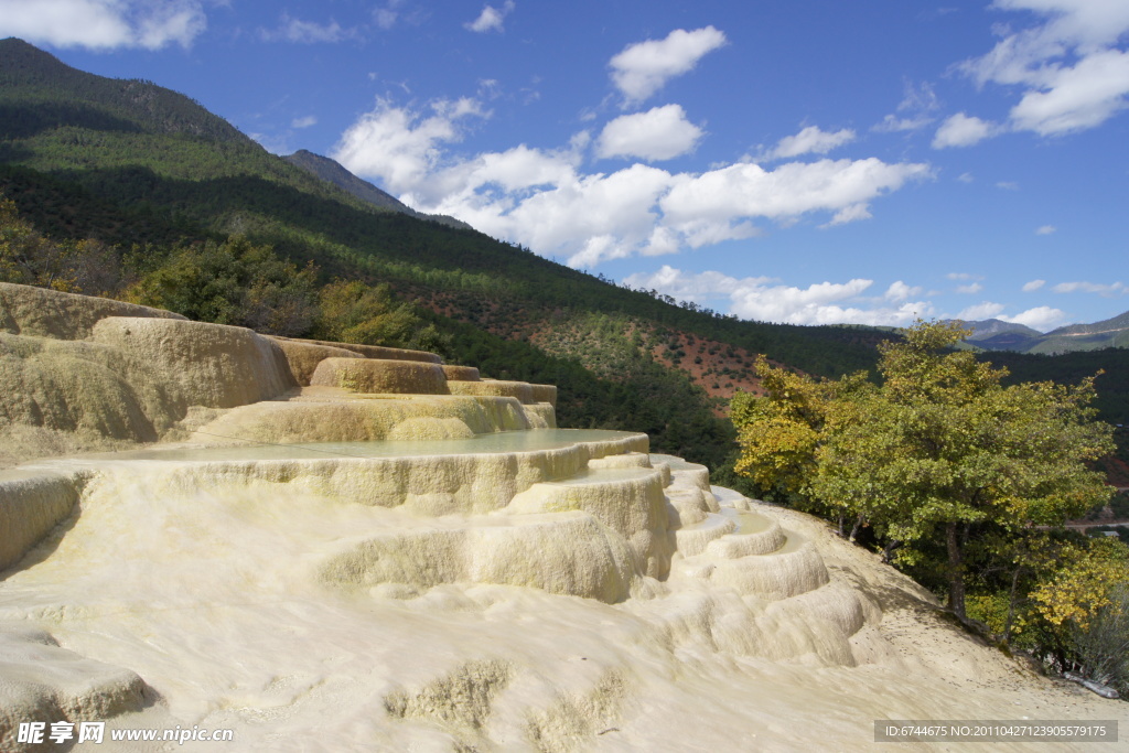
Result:
{"label": "cream and tan stepped limestone terraces covering the foreground hillside", "polygon": [[[557,430],[549,385],[7,284],[0,378],[3,751],[64,719],[272,751],[1129,723],[820,522],[645,435]],[[106,449],[129,452],[76,454]]]}

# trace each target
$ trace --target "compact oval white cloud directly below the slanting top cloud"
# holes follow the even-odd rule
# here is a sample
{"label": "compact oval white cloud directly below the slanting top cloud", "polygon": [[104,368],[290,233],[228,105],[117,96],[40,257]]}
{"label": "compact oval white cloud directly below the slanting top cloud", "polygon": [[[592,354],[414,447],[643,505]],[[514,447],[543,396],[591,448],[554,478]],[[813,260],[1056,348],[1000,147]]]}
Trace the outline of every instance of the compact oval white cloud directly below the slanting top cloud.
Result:
{"label": "compact oval white cloud directly below the slanting top cloud", "polygon": [[610,122],[596,142],[596,155],[672,159],[693,150],[703,133],[686,120],[681,105],[665,105]]}

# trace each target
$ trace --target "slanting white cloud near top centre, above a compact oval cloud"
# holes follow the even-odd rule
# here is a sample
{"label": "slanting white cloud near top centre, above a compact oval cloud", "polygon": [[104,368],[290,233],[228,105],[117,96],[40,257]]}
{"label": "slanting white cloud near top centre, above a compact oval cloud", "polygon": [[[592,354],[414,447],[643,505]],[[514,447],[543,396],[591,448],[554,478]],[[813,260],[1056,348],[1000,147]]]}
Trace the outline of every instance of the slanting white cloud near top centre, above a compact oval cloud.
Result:
{"label": "slanting white cloud near top centre, above a compact oval cloud", "polygon": [[628,45],[612,58],[612,81],[628,102],[642,102],[667,80],[693,70],[698,61],[726,43],[725,34],[707,26],[675,29],[665,40]]}

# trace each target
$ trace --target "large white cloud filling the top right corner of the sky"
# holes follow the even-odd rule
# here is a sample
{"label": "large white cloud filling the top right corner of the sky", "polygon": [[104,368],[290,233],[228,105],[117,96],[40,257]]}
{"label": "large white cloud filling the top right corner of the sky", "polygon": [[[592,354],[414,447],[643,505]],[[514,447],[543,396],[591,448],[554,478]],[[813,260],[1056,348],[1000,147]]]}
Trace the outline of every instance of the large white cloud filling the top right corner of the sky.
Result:
{"label": "large white cloud filling the top right corner of the sky", "polygon": [[986,55],[961,65],[979,85],[1024,89],[1009,114],[1015,130],[1058,135],[1102,124],[1129,102],[1129,3],[1121,0],[996,0],[997,9],[1031,11],[1040,23],[1001,26]]}

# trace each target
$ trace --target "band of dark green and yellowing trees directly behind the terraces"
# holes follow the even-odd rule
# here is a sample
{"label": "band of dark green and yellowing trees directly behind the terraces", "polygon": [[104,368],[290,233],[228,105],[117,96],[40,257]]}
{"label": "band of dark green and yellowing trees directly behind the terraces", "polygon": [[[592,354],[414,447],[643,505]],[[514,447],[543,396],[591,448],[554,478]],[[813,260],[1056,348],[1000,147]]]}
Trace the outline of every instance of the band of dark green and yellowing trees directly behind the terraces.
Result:
{"label": "band of dark green and yellowing trees directly behind the terraces", "polygon": [[711,467],[733,445],[732,427],[711,414],[699,387],[633,349],[597,374],[580,359],[422,309],[376,278],[335,279],[244,236],[128,249],[55,240],[0,199],[0,280],[115,297],[269,334],[438,352],[495,378],[558,385],[561,426],[645,431],[655,452]]}

